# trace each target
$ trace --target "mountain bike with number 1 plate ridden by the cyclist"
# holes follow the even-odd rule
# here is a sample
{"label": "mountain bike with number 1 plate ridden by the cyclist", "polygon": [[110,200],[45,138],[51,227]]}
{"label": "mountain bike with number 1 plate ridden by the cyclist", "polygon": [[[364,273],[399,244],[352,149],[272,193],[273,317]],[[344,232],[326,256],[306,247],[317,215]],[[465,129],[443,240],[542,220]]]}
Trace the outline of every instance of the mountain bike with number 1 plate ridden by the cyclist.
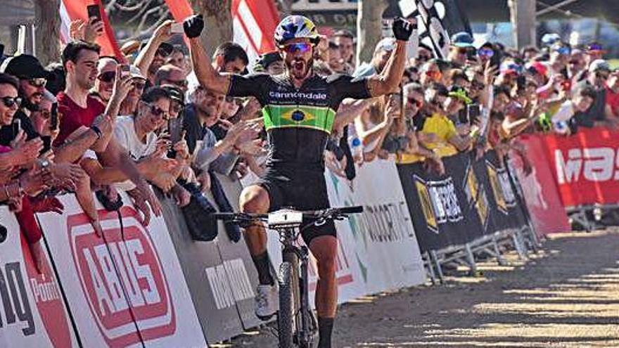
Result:
{"label": "mountain bike with number 1 plate ridden by the cyclist", "polygon": [[269,214],[216,213],[216,219],[238,224],[243,228],[267,224],[279,233],[281,266],[279,267],[279,311],[277,314],[280,348],[311,348],[318,325],[309,307],[309,250],[300,245],[299,236],[310,226],[321,226],[331,220],[343,220],[349,214],[363,212],[363,207],[328,208],[299,212],[283,209]]}

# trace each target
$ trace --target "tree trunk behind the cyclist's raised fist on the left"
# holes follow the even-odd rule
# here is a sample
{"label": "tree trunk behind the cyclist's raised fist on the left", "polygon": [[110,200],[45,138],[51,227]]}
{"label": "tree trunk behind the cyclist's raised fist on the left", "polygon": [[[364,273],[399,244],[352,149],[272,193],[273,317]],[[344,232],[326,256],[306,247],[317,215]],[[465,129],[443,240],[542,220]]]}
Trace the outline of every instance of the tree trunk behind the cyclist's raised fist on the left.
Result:
{"label": "tree trunk behind the cyclist's raised fist on the left", "polygon": [[232,41],[231,0],[191,0],[196,13],[204,16],[204,31],[200,39],[209,55],[225,41]]}

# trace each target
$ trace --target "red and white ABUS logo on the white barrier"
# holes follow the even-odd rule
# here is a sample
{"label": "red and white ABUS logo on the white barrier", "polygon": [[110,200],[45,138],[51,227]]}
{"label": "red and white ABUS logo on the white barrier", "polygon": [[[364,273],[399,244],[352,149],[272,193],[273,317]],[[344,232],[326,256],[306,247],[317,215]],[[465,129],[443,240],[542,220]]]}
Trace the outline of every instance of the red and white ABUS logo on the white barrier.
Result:
{"label": "red and white ABUS logo on the white barrier", "polygon": [[[94,321],[110,347],[172,335],[174,307],[161,262],[133,208],[102,217],[105,241],[84,214],[67,219],[77,276]],[[139,329],[139,332],[137,330]]]}

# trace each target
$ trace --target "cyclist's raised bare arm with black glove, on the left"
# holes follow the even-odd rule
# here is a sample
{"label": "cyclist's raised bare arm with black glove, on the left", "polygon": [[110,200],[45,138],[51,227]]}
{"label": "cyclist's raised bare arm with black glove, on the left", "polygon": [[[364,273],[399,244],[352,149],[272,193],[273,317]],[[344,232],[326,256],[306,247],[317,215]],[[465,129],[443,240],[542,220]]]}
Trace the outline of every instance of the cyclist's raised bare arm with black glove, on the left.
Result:
{"label": "cyclist's raised bare arm with black glove, on the left", "polygon": [[191,46],[191,63],[196,72],[200,86],[217,94],[227,94],[230,86],[230,75],[222,75],[212,67],[210,57],[200,43],[200,33],[204,29],[202,15],[193,15],[183,23],[185,34]]}

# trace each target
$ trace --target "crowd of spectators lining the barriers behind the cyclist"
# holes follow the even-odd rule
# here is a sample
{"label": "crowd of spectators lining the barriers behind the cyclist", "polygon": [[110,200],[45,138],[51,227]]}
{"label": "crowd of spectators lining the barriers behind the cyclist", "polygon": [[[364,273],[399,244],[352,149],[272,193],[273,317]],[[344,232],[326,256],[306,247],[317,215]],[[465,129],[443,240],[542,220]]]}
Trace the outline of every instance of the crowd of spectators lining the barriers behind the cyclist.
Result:
{"label": "crowd of spectators lining the barriers behind the cyclist", "polygon": [[[115,210],[125,191],[147,225],[161,212],[154,191],[192,216],[216,210],[203,198],[210,191],[218,210],[229,211],[214,173],[252,183],[264,171],[260,104],[200,86],[186,47],[168,43],[172,24],[164,22],[147,41],[125,43],[119,58],[101,56],[94,44],[101,22],[76,21],[62,62],[44,67],[26,54],[2,62],[0,201],[15,212],[39,269],[34,213],[62,212],[60,194],[75,193],[101,235],[95,199]],[[384,38],[369,62],[355,66],[355,36],[340,30],[321,37],[314,72],[376,75],[393,49],[395,39]],[[523,133],[568,135],[619,124],[619,70],[603,59],[599,44],[570,47],[546,35],[541,49],[515,51],[490,42],[476,46],[462,32],[443,59],[424,44],[413,51],[399,90],[340,106],[350,122],[333,129],[326,146],[333,173],[352,181],[364,163],[383,159],[424,162],[442,174],[442,157],[490,148],[504,155],[518,150]],[[219,72],[236,74],[285,70],[279,53],[250,62],[231,42],[217,47],[212,62]],[[226,232],[240,238],[238,228]]]}

